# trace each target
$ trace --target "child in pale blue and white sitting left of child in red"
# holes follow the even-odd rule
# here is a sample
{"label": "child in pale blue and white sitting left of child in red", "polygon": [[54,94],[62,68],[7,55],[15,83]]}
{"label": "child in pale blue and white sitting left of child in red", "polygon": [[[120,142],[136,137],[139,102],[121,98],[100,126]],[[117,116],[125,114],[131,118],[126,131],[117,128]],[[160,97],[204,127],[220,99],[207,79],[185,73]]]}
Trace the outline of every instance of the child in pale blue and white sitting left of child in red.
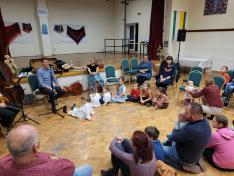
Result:
{"label": "child in pale blue and white sitting left of child in red", "polygon": [[126,86],[124,85],[124,78],[119,78],[119,84],[117,85],[117,95],[112,98],[113,103],[124,103],[127,100]]}

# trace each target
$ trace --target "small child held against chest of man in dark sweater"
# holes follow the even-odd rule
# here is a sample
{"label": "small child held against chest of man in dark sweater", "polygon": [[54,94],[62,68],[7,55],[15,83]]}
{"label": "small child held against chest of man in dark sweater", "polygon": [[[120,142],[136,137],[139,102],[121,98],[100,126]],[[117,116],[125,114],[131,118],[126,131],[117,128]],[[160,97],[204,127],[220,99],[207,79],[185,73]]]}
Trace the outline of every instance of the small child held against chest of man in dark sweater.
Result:
{"label": "small child held against chest of man in dark sweater", "polygon": [[[187,121],[188,117],[185,114],[185,108],[182,108],[179,111],[178,114],[178,121],[175,123],[175,127],[174,130],[181,130],[183,129],[189,122]],[[167,140],[165,142],[163,142],[164,146],[171,146],[172,145],[172,134],[168,134],[167,135]]]}

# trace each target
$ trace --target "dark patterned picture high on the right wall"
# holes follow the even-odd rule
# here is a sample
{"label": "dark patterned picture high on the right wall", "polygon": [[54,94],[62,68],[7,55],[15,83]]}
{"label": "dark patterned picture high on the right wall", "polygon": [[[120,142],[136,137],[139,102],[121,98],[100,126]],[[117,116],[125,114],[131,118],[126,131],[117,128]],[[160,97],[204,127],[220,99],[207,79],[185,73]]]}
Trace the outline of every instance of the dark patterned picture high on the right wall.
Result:
{"label": "dark patterned picture high on the right wall", "polygon": [[225,14],[228,0],[206,0],[204,15]]}

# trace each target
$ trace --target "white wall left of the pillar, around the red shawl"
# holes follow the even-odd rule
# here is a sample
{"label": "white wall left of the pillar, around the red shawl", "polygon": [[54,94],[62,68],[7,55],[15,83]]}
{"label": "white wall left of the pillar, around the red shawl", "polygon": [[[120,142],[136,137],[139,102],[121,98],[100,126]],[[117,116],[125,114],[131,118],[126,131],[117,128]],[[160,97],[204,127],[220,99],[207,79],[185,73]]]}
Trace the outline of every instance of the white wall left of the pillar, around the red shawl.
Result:
{"label": "white wall left of the pillar, around the red shawl", "polygon": [[5,23],[25,22],[31,23],[33,44],[12,44],[10,51],[12,56],[36,56],[41,54],[38,17],[36,14],[36,2],[34,0],[0,0],[2,16]]}

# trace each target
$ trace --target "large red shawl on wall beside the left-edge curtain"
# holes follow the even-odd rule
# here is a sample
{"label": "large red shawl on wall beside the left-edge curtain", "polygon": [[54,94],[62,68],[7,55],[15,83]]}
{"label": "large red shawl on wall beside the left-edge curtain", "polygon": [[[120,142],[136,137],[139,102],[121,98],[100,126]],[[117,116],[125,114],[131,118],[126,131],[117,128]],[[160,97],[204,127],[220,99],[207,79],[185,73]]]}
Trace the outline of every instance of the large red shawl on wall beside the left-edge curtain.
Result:
{"label": "large red shawl on wall beside the left-edge curtain", "polygon": [[14,23],[10,26],[6,26],[8,44],[21,34],[19,23]]}

